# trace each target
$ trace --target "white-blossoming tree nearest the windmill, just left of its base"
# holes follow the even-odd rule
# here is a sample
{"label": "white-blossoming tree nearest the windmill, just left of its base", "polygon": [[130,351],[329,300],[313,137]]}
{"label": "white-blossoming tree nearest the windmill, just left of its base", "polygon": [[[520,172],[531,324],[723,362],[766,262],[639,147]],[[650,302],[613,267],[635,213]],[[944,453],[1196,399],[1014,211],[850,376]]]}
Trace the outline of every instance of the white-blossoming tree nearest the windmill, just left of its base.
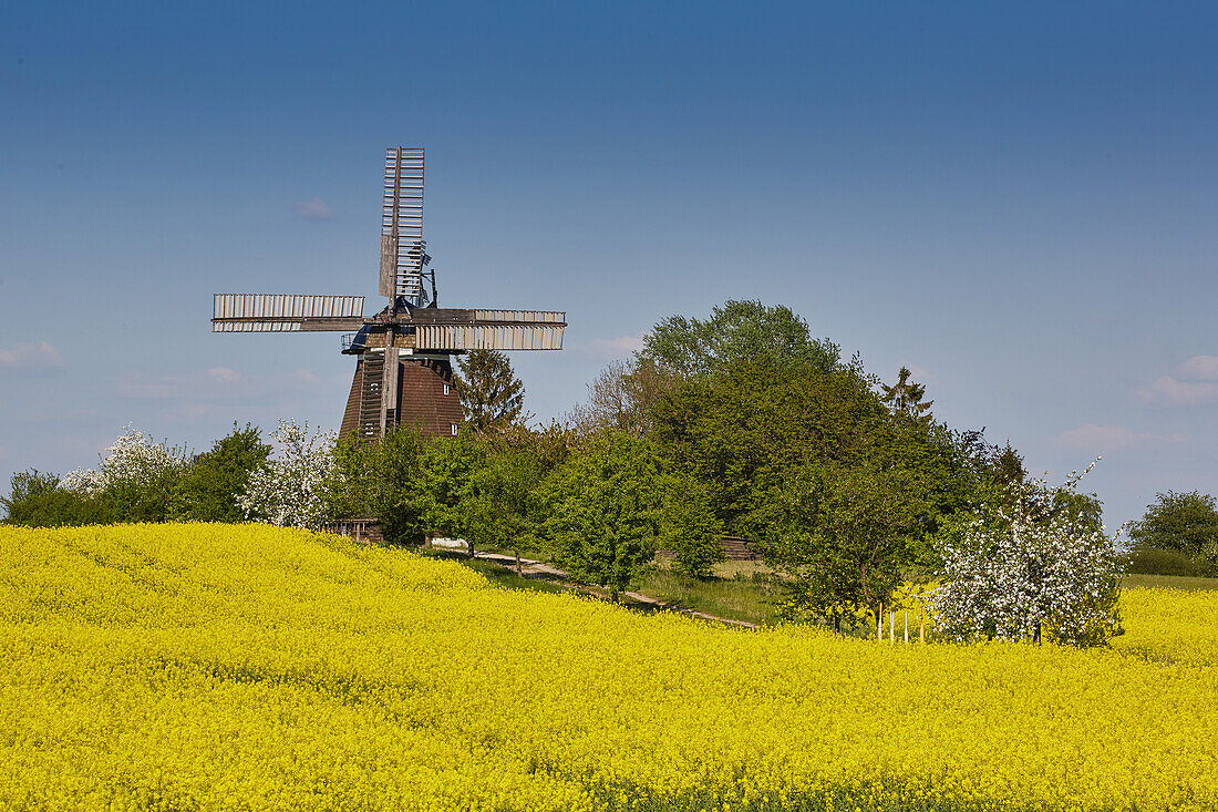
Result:
{"label": "white-blossoming tree nearest the windmill, just left of its base", "polygon": [[270,436],[279,454],[253,469],[238,506],[246,518],[280,527],[320,527],[329,518],[322,483],[334,467],[335,433],[309,434],[308,423],[281,419]]}

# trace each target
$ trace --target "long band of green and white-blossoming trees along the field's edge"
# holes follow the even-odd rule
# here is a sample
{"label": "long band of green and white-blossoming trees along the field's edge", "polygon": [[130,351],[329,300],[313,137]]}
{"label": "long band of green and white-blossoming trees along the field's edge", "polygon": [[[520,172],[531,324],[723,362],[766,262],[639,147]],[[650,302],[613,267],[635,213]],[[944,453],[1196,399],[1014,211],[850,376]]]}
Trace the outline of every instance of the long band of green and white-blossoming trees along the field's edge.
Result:
{"label": "long band of green and white-blossoming trees along the field's edge", "polygon": [[[234,427],[191,460],[161,446],[175,462],[156,497],[121,496],[107,463],[93,490],[33,472],[15,478],[10,516],[30,521],[21,511],[41,489],[84,494],[110,521],[373,517],[393,543],[540,550],[614,594],[658,550],[706,575],[730,533],[780,574],[792,621],[878,617],[916,580],[952,584],[935,610],[961,639],[1085,643],[1117,629],[1117,557],[1077,478],[1028,477],[1009,444],[938,421],[909,369],[883,384],[787,307],[666,318],[549,426],[530,424],[504,356],[471,352],[460,373],[466,421],[452,439],[401,427],[335,443],[285,423],[272,456],[256,429]],[[219,484],[186,484],[201,479]]]}

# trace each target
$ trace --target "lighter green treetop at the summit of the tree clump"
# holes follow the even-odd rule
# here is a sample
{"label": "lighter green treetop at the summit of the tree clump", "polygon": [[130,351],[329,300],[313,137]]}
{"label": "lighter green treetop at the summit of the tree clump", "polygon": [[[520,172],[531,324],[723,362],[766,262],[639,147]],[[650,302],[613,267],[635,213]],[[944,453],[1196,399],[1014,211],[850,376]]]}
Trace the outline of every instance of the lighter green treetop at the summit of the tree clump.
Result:
{"label": "lighter green treetop at the summit of the tree clump", "polygon": [[705,321],[685,316],[661,321],[643,339],[638,357],[680,376],[756,358],[827,372],[839,366],[840,347],[828,339],[812,339],[808,322],[788,307],[728,301]]}

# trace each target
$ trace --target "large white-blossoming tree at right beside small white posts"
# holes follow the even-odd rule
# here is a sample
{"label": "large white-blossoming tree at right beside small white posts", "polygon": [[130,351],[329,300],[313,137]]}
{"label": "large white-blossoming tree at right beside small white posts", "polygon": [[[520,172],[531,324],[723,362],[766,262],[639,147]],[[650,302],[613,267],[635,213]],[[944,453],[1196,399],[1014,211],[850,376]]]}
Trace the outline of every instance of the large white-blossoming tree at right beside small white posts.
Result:
{"label": "large white-blossoming tree at right beside small white posts", "polygon": [[944,534],[944,584],[928,602],[948,634],[1094,645],[1117,632],[1116,539],[1075,490],[1090,469],[1058,489],[1015,483],[1005,502]]}

